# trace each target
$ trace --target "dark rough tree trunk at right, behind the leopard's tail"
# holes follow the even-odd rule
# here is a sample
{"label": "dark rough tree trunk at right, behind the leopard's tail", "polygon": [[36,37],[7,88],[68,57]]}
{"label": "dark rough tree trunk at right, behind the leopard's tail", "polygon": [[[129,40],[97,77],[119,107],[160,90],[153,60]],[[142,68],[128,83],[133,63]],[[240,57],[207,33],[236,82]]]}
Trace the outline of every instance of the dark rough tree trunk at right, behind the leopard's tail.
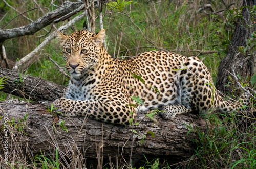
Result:
{"label": "dark rough tree trunk at right, behind the leopard's tail", "polygon": [[[246,6],[245,2],[248,6],[252,8],[254,5],[254,1],[252,0],[246,0],[244,1],[244,6]],[[246,41],[250,37],[250,34],[255,31],[255,28],[248,30],[247,27],[244,25],[249,24],[250,21],[250,15],[249,10],[247,8],[243,8],[242,15],[243,18],[238,20],[238,24],[236,26],[236,29],[234,30],[231,45],[229,46],[228,53],[220,62],[219,68],[218,68],[218,75],[216,80],[216,88],[222,92],[229,92],[232,93],[231,87],[224,87],[224,85],[228,84],[228,76],[230,76],[232,79],[233,75],[232,73],[232,66],[234,66],[234,71],[236,75],[240,75],[240,77],[244,78],[246,76],[252,75],[251,69],[252,69],[252,61],[248,58],[248,56],[245,56],[244,54],[239,53],[238,47],[244,46],[246,47]],[[229,72],[230,73],[229,73]]]}

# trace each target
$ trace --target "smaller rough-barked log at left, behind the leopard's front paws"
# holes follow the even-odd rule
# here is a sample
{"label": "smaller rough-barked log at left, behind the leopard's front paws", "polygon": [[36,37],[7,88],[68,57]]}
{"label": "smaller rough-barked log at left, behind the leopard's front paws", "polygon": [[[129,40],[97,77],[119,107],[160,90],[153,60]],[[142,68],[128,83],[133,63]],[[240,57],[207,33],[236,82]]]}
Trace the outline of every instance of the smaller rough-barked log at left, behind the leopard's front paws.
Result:
{"label": "smaller rough-barked log at left, behind the leopard's front paws", "polygon": [[1,91],[10,93],[21,98],[29,98],[32,101],[54,101],[63,96],[65,87],[57,83],[42,79],[40,77],[22,75],[20,81],[19,73],[10,69],[0,67],[0,77],[9,78]]}

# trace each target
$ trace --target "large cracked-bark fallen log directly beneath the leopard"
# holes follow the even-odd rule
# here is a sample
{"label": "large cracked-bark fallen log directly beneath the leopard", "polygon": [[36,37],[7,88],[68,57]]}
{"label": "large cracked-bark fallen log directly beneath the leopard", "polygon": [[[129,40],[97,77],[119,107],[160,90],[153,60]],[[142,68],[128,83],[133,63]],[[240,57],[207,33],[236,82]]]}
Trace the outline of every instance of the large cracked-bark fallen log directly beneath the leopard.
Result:
{"label": "large cracked-bark fallen log directly beneath the leopard", "polygon": [[[47,104],[50,105],[51,103],[30,103],[26,108],[26,104],[0,102],[0,116],[7,113],[9,119],[15,119],[15,123],[19,123],[18,118],[23,119],[28,113],[25,131],[29,141],[26,141],[26,145],[33,154],[40,154],[40,150],[53,152],[56,147],[59,154],[65,154],[73,151],[74,145],[76,145],[77,150],[85,151],[84,156],[86,158],[96,159],[95,143],[100,143],[103,139],[105,158],[108,159],[109,154],[116,159],[119,148],[119,155],[122,154],[122,157],[129,161],[132,144],[131,127],[102,123],[90,118],[83,125],[84,117],[68,117],[65,118],[65,126],[69,132],[60,130],[56,123],[57,130],[54,131],[53,121],[57,122],[57,120],[54,120],[47,111]],[[148,159],[158,157],[169,162],[186,159],[194,153],[196,144],[193,139],[197,139],[198,135],[193,132],[187,135],[188,128],[185,124],[193,126],[194,129],[201,128],[204,130],[206,127],[205,120],[194,114],[177,115],[173,120],[156,117],[156,123],[149,118],[142,119],[143,116],[143,114],[139,115],[138,120],[141,120],[141,123],[134,128],[138,132],[135,134],[133,146],[133,159],[135,161],[144,159],[143,154]],[[59,117],[59,120],[62,120],[62,117]],[[0,120],[0,125],[3,123],[3,119]],[[147,134],[147,131],[154,132],[155,137]],[[146,135],[146,138],[144,139],[145,142],[140,144],[142,135]],[[26,148],[23,151],[26,151]],[[122,157],[120,156],[119,159]]]}

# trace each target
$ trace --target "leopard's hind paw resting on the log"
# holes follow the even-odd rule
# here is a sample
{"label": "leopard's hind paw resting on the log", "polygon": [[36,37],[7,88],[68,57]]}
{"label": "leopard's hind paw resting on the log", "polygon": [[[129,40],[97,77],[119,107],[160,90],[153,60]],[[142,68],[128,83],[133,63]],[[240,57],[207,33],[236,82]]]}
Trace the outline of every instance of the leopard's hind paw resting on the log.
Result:
{"label": "leopard's hind paw resting on the log", "polygon": [[176,114],[184,114],[189,113],[191,111],[191,108],[188,109],[184,105],[169,105],[164,107],[164,112],[161,112],[163,118],[166,119],[172,119],[176,116]]}

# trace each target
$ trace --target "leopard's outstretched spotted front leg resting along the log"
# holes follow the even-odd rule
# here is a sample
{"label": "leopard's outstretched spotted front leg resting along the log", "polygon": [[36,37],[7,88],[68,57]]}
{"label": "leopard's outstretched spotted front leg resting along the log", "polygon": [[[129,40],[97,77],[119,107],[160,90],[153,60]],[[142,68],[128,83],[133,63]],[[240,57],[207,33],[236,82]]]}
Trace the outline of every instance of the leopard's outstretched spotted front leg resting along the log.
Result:
{"label": "leopard's outstretched spotted front leg resting along the log", "polygon": [[[63,116],[86,116],[95,117],[98,120],[110,123],[129,125],[129,119],[135,114],[130,114],[129,107],[120,102],[104,102],[99,100],[76,101],[72,99],[60,98],[54,101],[54,107]],[[120,105],[113,107],[112,105]]]}

